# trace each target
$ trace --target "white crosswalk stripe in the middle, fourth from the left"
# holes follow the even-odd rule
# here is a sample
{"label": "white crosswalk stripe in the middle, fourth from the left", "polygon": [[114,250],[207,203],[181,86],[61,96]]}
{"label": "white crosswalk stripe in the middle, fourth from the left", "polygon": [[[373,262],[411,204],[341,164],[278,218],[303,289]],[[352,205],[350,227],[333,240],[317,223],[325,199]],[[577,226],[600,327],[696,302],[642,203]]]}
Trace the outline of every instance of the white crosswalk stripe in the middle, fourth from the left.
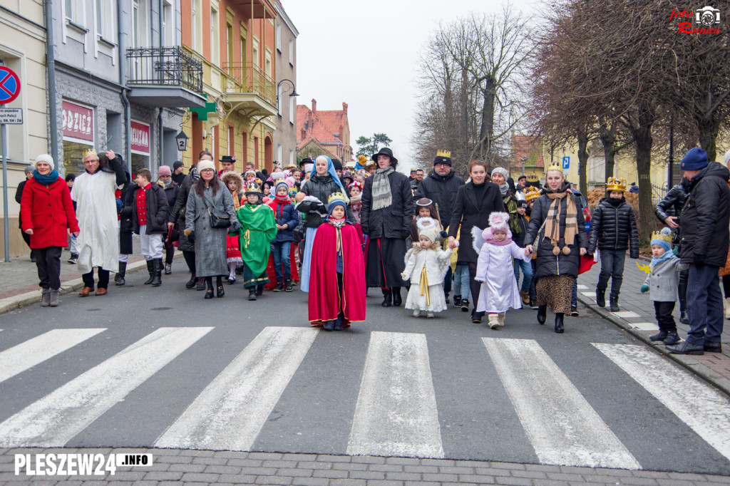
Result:
{"label": "white crosswalk stripe in the middle, fourth from the left", "polygon": [[424,334],[370,334],[347,454],[444,457]]}

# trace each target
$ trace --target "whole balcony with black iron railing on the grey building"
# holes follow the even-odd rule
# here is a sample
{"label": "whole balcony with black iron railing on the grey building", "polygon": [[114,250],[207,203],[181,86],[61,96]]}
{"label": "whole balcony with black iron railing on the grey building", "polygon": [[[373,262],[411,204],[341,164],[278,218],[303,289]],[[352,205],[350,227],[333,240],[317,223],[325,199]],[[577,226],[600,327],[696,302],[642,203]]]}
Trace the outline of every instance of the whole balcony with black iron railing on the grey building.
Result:
{"label": "whole balcony with black iron railing on the grey building", "polygon": [[127,50],[128,98],[148,107],[204,107],[203,64],[176,47]]}

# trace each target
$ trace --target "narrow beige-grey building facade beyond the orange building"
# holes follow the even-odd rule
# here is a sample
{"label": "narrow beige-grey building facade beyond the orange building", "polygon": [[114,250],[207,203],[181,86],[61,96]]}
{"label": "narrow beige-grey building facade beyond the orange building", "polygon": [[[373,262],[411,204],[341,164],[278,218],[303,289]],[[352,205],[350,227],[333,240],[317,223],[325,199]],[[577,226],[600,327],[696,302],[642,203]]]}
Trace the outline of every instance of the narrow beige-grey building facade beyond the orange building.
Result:
{"label": "narrow beige-grey building facade beyond the orange building", "polygon": [[276,0],[277,128],[276,160],[281,166],[296,165],[296,30],[281,2]]}

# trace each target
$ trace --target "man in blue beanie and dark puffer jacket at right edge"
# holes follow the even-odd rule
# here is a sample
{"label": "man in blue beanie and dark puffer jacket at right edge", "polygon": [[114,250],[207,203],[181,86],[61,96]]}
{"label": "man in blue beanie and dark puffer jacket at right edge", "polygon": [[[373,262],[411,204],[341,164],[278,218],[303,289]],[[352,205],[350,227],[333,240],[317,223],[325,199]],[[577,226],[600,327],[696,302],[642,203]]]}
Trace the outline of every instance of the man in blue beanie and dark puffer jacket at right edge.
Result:
{"label": "man in blue beanie and dark puffer jacket at right edge", "polygon": [[[730,171],[707,161],[707,152],[691,149],[680,163],[690,181],[689,197],[682,210],[680,261],[689,265],[687,310],[689,332],[682,344],[669,352],[702,355],[720,352],[723,303],[718,270],[725,266],[730,244]],[[707,332],[705,332],[707,331]]]}

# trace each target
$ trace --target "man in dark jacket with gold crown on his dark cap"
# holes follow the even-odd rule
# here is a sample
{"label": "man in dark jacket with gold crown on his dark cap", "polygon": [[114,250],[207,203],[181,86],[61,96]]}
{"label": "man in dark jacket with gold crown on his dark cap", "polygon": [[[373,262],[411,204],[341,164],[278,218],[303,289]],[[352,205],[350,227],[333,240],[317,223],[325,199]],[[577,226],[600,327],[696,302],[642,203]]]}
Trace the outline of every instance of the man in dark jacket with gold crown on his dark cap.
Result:
{"label": "man in dark jacket with gold crown on his dark cap", "polygon": [[[456,175],[454,169],[451,168],[451,153],[442,153],[439,150],[437,157],[434,158],[434,168],[429,171],[429,176],[424,177],[418,184],[418,190],[415,191],[414,201],[420,198],[429,198],[434,201],[439,209],[439,219],[441,225],[447,230],[447,226],[451,221],[451,213],[454,210],[456,202],[456,193],[458,188],[464,185],[464,180]],[[418,172],[417,172],[418,173]],[[448,230],[447,230],[448,231]],[[444,295],[446,304],[449,303],[449,292],[451,291],[451,267],[449,267],[444,277]]]}

